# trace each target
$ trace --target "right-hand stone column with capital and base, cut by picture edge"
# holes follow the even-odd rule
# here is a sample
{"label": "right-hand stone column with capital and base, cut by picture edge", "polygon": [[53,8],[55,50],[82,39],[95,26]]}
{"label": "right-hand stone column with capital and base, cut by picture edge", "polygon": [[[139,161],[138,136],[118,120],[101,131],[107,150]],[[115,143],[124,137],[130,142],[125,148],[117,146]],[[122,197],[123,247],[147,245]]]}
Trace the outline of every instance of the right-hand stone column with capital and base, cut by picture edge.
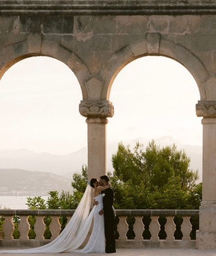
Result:
{"label": "right-hand stone column with capital and base, cut by picture edge", "polygon": [[198,101],[196,114],[203,117],[203,190],[198,249],[216,249],[216,101]]}

